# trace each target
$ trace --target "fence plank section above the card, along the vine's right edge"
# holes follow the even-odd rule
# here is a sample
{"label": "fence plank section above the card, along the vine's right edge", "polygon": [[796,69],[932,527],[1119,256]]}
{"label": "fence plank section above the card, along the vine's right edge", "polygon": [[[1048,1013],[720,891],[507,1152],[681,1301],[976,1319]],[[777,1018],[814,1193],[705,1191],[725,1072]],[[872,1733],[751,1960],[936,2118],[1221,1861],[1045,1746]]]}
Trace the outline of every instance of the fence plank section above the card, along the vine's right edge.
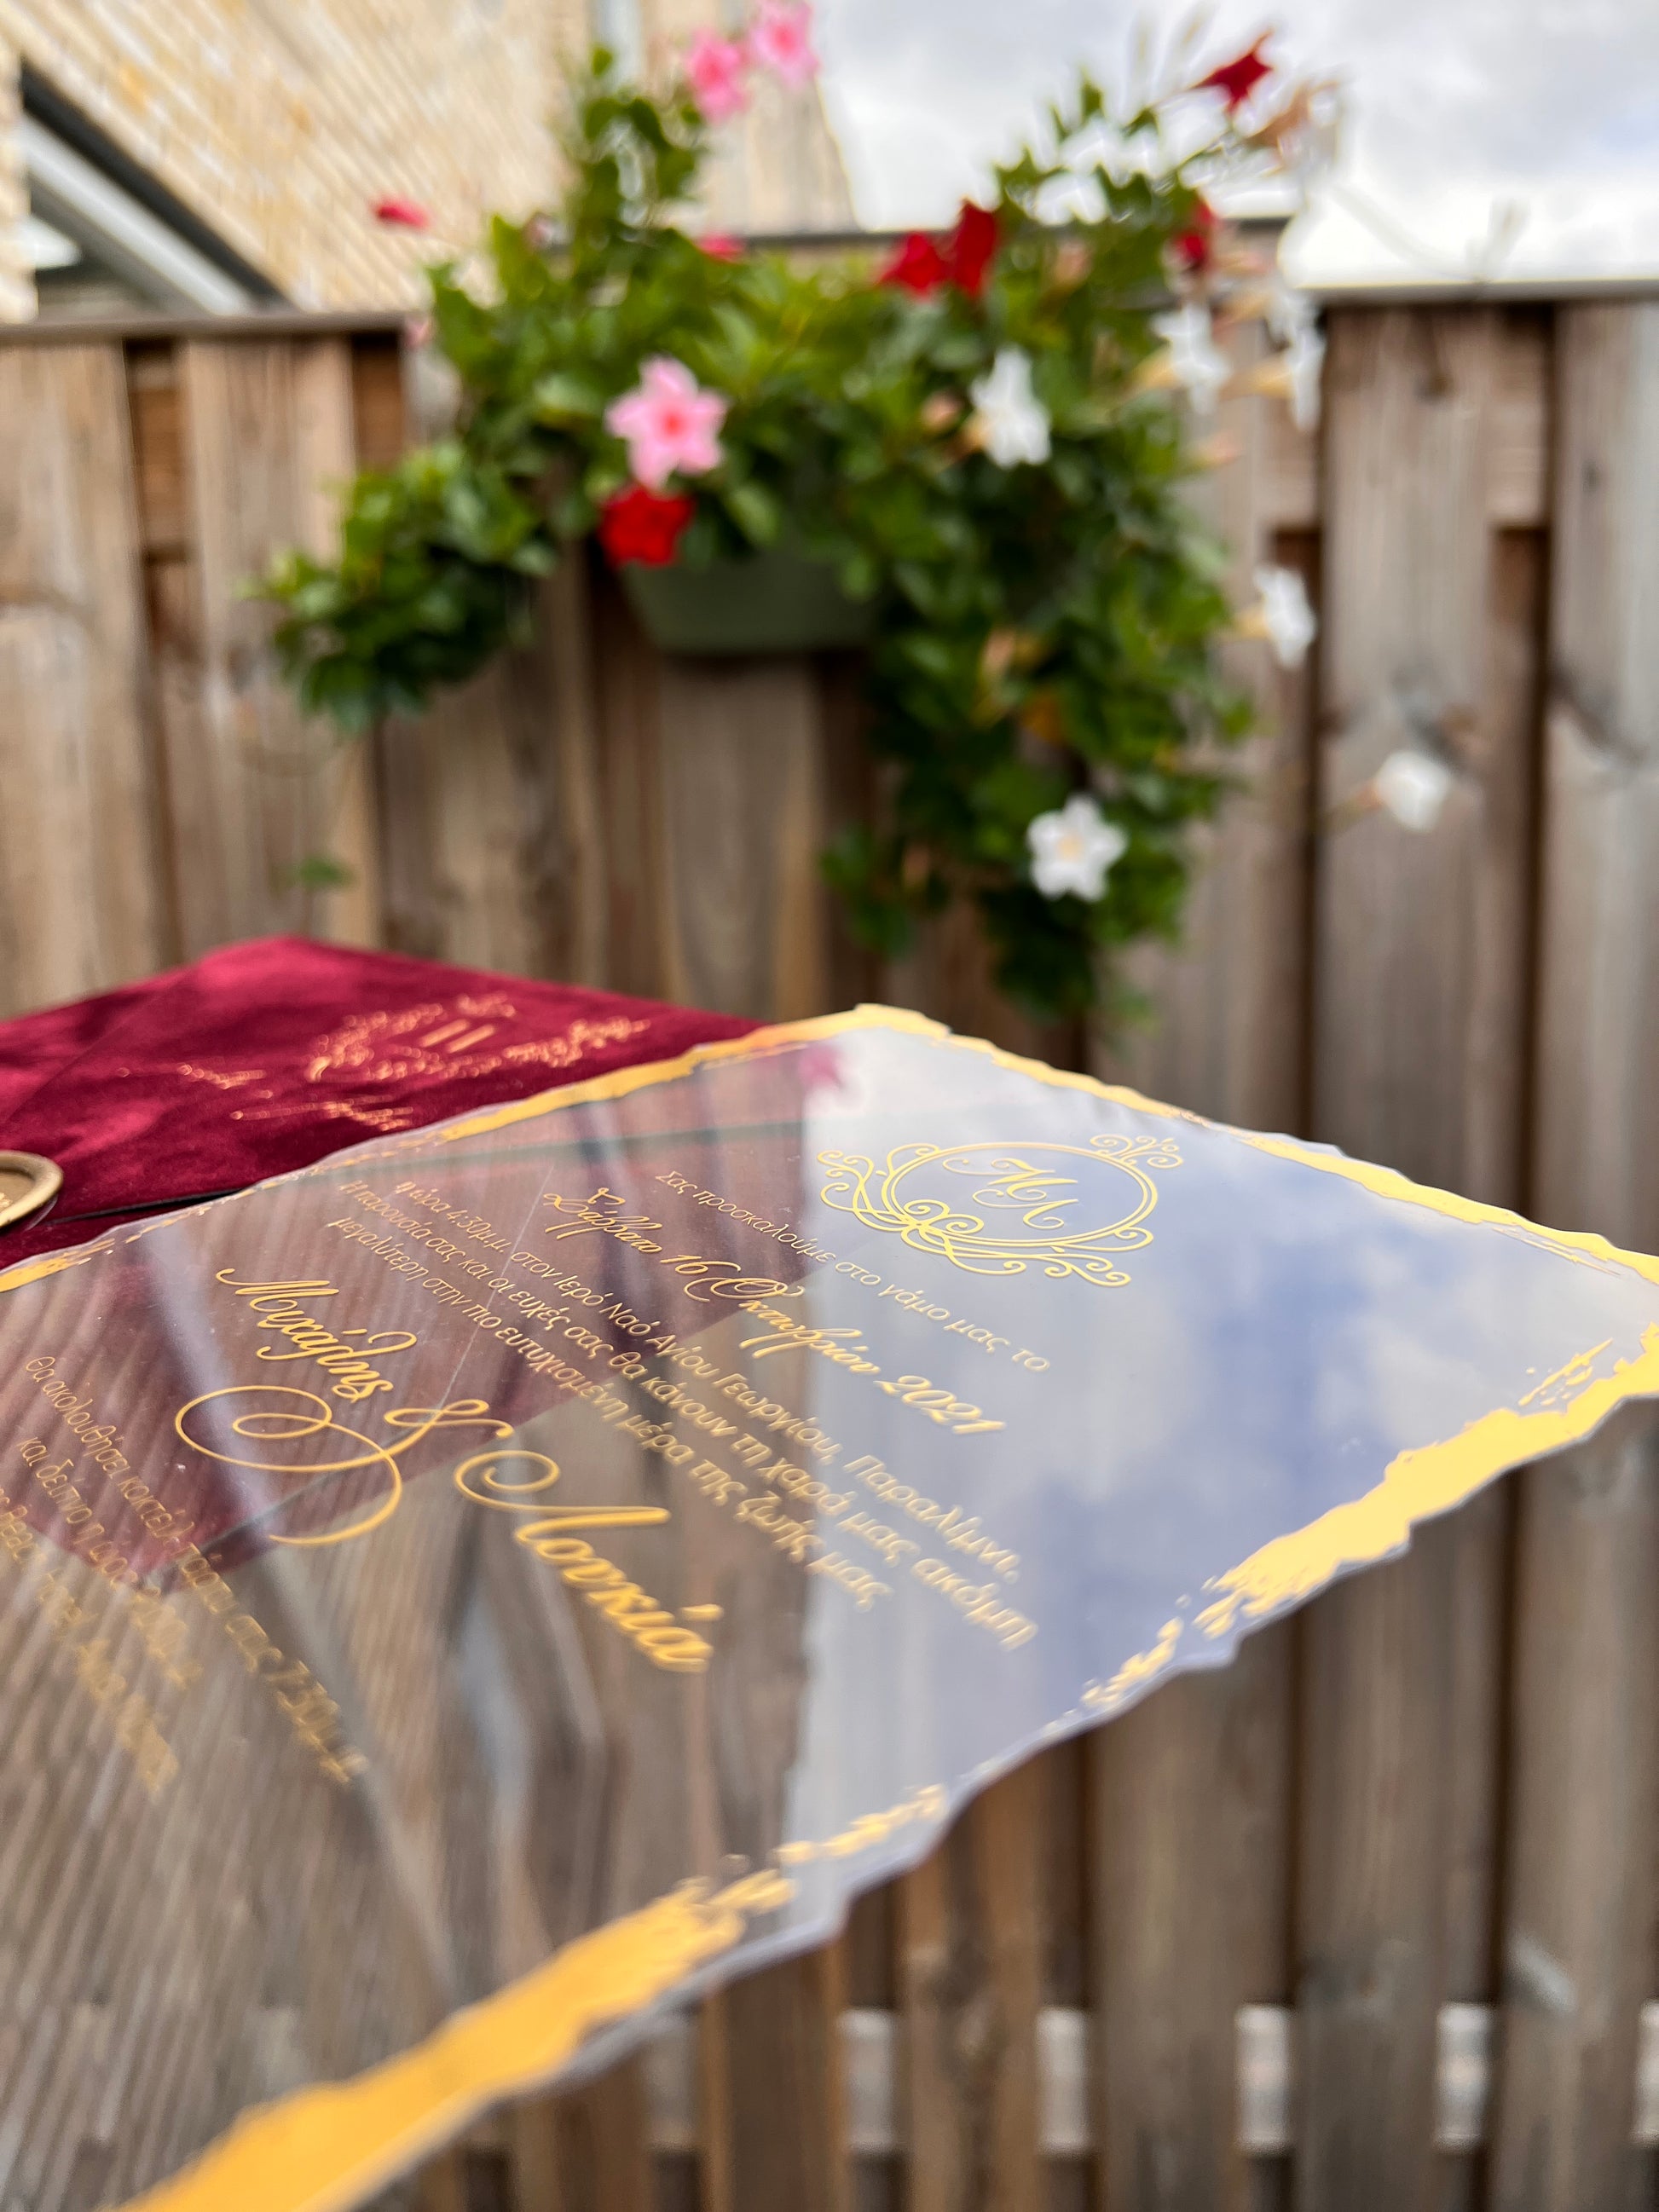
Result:
{"label": "fence plank section above the card, along the vine's right edge", "polygon": [[[1234,338],[1243,367],[1261,332]],[[1263,564],[1303,573],[1318,606],[1316,438],[1281,400],[1239,396],[1219,409],[1237,458],[1197,498],[1230,546],[1234,604],[1256,597]],[[1221,759],[1241,790],[1194,832],[1192,891],[1179,947],[1144,945],[1124,964],[1148,1015],[1093,1046],[1091,1066],[1157,1099],[1248,1128],[1294,1130],[1305,1117],[1307,869],[1314,655],[1274,666],[1267,646],[1223,650],[1230,681],[1256,699],[1259,728]]]}

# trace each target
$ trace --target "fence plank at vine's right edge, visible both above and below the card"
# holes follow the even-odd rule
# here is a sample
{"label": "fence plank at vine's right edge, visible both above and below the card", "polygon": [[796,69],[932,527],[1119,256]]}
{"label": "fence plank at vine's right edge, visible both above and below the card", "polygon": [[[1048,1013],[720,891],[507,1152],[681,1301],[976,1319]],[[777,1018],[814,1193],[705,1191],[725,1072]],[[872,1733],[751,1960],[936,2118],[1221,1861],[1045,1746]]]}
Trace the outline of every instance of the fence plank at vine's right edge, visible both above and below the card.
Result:
{"label": "fence plank at vine's right edge, visible both above and below the card", "polygon": [[[1254,349],[1252,341],[1241,341]],[[1318,604],[1314,440],[1234,398],[1237,458],[1203,487],[1232,546],[1228,588],[1296,566]],[[1225,765],[1245,790],[1194,845],[1179,949],[1144,947],[1152,1002],[1093,1064],[1155,1097],[1259,1128],[1305,1102],[1307,818],[1314,661],[1228,653],[1261,730]],[[1292,1637],[1252,1637],[1225,1674],[1172,1683],[1088,1745],[1099,2192],[1135,2212],[1223,2212],[1259,2197],[1237,2150],[1234,2015],[1290,1993]]]}

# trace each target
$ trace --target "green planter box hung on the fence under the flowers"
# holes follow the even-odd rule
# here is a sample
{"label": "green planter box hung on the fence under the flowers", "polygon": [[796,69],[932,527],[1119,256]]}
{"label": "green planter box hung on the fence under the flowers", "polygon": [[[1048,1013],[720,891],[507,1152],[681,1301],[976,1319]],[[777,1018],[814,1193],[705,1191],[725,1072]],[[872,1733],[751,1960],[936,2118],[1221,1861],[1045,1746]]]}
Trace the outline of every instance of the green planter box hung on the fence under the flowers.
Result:
{"label": "green planter box hung on the fence under the flowers", "polygon": [[664,653],[827,653],[863,646],[874,608],[849,599],[830,562],[774,549],[708,568],[617,571],[635,615]]}

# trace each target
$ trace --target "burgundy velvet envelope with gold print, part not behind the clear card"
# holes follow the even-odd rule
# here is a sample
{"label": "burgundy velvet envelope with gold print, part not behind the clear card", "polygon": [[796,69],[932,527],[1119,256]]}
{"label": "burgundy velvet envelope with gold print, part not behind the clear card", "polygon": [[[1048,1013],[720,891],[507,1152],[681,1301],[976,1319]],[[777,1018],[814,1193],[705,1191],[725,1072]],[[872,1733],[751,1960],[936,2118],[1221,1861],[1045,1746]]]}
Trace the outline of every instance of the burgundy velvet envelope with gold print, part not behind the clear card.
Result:
{"label": "burgundy velvet envelope with gold print, part not behind the clear card", "polygon": [[113,1217],[750,1029],[310,938],[230,945],[0,1024],[0,1150],[64,1170],[53,1212],[0,1234],[0,1267],[84,1243]]}

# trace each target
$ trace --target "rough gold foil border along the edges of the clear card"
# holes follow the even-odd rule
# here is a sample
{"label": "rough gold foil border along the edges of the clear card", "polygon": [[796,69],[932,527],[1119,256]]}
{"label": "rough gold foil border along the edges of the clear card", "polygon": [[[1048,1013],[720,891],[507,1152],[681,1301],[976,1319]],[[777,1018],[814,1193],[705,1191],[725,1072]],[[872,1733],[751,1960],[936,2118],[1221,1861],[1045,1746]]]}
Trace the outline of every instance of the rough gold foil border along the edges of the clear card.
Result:
{"label": "rough gold foil border along the edges of the clear card", "polygon": [[[1179,1106],[1159,1106],[1093,1075],[1071,1075],[973,1037],[953,1037],[938,1022],[891,1006],[858,1006],[852,1013],[783,1022],[721,1044],[699,1044],[679,1060],[617,1068],[584,1084],[487,1108],[431,1130],[431,1139],[456,1144],[566,1106],[626,1097],[630,1091],[672,1082],[708,1062],[754,1057],[858,1029],[887,1029],[931,1037],[953,1051],[987,1053],[998,1066],[1035,1082],[1110,1099],[1133,1113],[1221,1128],[1261,1152],[1321,1175],[1340,1175],[1380,1199],[1422,1206],[1453,1221],[1504,1228],[1564,1259],[1630,1267],[1659,1285],[1659,1261],[1621,1252],[1601,1237],[1542,1230],[1498,1206],[1480,1206],[1411,1183],[1391,1168],[1374,1168],[1287,1137],[1228,1130],[1225,1124],[1206,1121]],[[319,1175],[330,1166],[332,1161],[323,1161],[301,1172]],[[113,1245],[27,1261],[0,1274],[0,1292],[82,1265],[106,1250]],[[1219,1575],[1212,1584],[1214,1601],[1199,1615],[1199,1630],[1208,1637],[1228,1635],[1241,1617],[1263,1619],[1312,1595],[1334,1575],[1387,1557],[1407,1542],[1416,1522],[1451,1511],[1493,1475],[1582,1442],[1628,1398],[1659,1396],[1659,1318],[1644,1332],[1641,1352],[1621,1360],[1610,1376],[1590,1380],[1588,1363],[1571,1363],[1551,1380],[1557,1385],[1553,1402],[1540,1405],[1537,1411],[1498,1407],[1469,1422],[1460,1436],[1398,1453],[1383,1480],[1363,1498],[1334,1506]],[[1051,1723],[1046,1734],[1057,1734],[1068,1721],[1084,1725],[1091,1714],[1117,1710],[1130,1694],[1139,1694],[1175,1661],[1177,1641],[1179,1624],[1170,1624],[1155,1650],[1130,1659],[1104,1692],[1086,1694],[1071,1714]],[[1033,1736],[1033,1750],[1037,1741]],[[931,1827],[918,1827],[918,1840],[922,1836],[931,1840]],[[787,1863],[790,1847],[776,1856]],[[223,2212],[226,2205],[234,2205],[237,2212],[347,2212],[427,2152],[451,2141],[491,2104],[551,2081],[597,2028],[641,2013],[695,1969],[730,1951],[748,1920],[776,1909],[790,1889],[787,1876],[774,1871],[750,1876],[719,1893],[684,1885],[655,1905],[577,1938],[533,1973],[453,2013],[425,2042],[380,2066],[347,2081],[294,2090],[246,2112],[190,2166],[131,2199],[126,2212]]]}

